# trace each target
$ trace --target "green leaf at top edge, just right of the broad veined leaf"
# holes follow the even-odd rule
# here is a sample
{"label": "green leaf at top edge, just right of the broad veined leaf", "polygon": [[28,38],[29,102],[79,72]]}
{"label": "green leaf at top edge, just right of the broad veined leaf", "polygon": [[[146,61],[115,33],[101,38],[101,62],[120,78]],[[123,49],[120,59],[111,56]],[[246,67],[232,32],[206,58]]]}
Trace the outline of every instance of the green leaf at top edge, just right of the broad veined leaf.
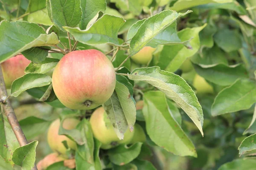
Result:
{"label": "green leaf at top edge, just right of the broad veined leaf", "polygon": [[99,11],[104,12],[106,10],[106,5],[106,0],[81,0],[82,19],[79,28],[85,30],[87,24]]}

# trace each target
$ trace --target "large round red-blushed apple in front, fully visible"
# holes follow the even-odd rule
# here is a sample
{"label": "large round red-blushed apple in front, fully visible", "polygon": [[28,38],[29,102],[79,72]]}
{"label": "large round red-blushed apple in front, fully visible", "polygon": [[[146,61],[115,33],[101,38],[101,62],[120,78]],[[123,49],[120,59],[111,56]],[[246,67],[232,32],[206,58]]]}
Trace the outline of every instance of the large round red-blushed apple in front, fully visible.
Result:
{"label": "large round red-blushed apple in front, fully visible", "polygon": [[102,105],[113,94],[115,85],[111,61],[93,49],[66,54],[52,74],[56,96],[70,109],[89,110]]}

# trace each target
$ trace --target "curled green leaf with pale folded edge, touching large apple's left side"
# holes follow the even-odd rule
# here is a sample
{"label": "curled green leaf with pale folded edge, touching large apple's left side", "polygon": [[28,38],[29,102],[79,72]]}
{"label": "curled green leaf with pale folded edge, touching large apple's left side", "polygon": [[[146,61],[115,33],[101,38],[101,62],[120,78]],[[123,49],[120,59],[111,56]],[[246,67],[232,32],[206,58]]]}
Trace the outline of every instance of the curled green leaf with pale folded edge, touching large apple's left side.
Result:
{"label": "curled green leaf with pale folded edge, touching large apple's left side", "polygon": [[49,85],[52,78],[45,74],[29,73],[12,82],[11,96],[19,96],[22,92],[36,87]]}

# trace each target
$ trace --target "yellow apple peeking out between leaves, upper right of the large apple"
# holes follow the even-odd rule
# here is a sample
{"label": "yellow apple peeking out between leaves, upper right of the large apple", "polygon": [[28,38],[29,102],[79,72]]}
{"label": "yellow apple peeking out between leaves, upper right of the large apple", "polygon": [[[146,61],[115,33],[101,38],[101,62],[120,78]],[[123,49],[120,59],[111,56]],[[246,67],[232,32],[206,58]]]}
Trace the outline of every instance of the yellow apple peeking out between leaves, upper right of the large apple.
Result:
{"label": "yellow apple peeking out between leaves, upper right of the large apple", "polygon": [[131,59],[136,62],[137,64],[143,64],[146,65],[148,62],[151,61],[153,57],[153,52],[156,50],[156,48],[152,47],[144,47],[142,48],[137,54],[134,54],[131,56]]}

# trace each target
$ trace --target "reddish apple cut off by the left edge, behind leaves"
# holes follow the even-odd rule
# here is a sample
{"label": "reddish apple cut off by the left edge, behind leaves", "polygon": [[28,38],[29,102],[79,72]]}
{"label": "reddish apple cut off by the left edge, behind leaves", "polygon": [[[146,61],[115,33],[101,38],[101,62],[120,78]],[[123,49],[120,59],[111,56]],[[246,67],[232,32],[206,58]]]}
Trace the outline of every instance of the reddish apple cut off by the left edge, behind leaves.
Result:
{"label": "reddish apple cut off by the left edge, behind leaves", "polygon": [[17,55],[1,63],[6,88],[11,88],[12,82],[25,74],[24,70],[29,63],[30,61],[23,55]]}

